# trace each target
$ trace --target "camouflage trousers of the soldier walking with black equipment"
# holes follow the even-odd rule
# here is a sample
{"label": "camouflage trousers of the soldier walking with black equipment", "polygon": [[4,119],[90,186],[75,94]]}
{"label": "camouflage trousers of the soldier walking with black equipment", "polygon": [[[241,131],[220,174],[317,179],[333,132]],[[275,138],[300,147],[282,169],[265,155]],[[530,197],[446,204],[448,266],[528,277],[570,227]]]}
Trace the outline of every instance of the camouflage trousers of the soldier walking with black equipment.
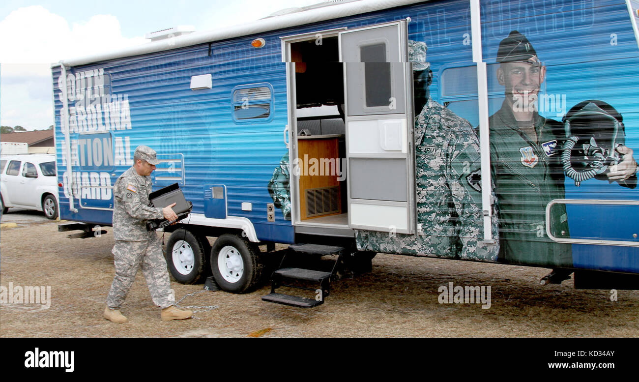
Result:
{"label": "camouflage trousers of the soldier walking with black equipment", "polygon": [[160,240],[155,233],[146,241],[116,240],[111,252],[114,257],[116,276],[107,296],[109,308],[119,309],[133,285],[140,266],[142,266],[142,275],[146,279],[153,303],[162,309],[175,303],[166,260],[162,254]]}

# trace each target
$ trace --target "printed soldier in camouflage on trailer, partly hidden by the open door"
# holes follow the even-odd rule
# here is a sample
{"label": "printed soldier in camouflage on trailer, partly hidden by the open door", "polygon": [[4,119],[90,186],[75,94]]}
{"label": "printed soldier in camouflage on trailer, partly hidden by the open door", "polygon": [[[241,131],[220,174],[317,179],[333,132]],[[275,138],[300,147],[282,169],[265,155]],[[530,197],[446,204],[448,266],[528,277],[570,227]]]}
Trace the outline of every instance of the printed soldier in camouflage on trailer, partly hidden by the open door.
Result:
{"label": "printed soldier in camouflage on trailer, partly hidden by the open door", "polygon": [[[358,248],[374,252],[495,261],[498,243],[481,240],[479,139],[466,119],[430,98],[426,43],[409,42],[415,80],[417,222],[423,234],[356,233]],[[421,101],[420,101],[421,100]],[[425,103],[425,105],[424,105]],[[422,107],[423,106],[423,107]],[[493,236],[497,218],[493,205]]]}

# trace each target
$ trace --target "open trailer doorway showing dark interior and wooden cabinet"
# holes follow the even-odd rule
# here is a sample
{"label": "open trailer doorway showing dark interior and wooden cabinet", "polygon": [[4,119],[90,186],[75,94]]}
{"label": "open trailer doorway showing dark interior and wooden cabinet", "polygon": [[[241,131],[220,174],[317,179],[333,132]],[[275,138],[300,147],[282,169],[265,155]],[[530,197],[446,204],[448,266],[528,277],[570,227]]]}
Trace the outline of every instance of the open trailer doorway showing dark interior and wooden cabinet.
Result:
{"label": "open trailer doorway showing dark interior and wooden cabinet", "polygon": [[289,75],[295,100],[293,219],[296,225],[348,228],[344,69],[337,33],[311,34],[291,42],[289,49],[295,63],[294,75]]}

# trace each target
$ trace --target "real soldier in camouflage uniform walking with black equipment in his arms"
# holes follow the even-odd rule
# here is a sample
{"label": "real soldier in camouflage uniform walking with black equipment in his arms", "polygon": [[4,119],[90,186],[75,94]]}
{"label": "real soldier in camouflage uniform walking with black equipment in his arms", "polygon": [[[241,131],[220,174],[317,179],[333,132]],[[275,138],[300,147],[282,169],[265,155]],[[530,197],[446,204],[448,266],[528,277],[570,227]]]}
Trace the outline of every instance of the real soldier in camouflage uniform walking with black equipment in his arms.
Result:
{"label": "real soldier in camouflage uniform walking with black equipment in his arms", "polygon": [[150,206],[151,172],[160,163],[155,151],[148,146],[138,146],[134,153],[134,165],[125,171],[113,186],[113,257],[116,276],[107,296],[104,317],[114,323],[125,323],[127,317],[119,312],[128,290],[135,280],[138,268],[151,293],[153,303],[162,309],[162,321],[185,319],[192,316],[190,310],[174,307],[175,296],[169,282],[166,260],[155,231],[148,231],[147,220],[178,217],[171,207]]}

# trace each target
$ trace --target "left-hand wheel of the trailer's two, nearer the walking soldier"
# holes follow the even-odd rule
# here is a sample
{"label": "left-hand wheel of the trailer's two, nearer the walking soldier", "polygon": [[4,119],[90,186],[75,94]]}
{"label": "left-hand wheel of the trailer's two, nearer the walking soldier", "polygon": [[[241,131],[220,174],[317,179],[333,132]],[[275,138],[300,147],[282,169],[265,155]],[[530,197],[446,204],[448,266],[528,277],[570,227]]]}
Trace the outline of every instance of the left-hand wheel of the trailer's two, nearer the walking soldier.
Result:
{"label": "left-hand wheel of the trailer's two, nearer the walking soldier", "polygon": [[208,240],[187,229],[176,229],[166,243],[166,263],[181,284],[197,284],[206,277]]}

